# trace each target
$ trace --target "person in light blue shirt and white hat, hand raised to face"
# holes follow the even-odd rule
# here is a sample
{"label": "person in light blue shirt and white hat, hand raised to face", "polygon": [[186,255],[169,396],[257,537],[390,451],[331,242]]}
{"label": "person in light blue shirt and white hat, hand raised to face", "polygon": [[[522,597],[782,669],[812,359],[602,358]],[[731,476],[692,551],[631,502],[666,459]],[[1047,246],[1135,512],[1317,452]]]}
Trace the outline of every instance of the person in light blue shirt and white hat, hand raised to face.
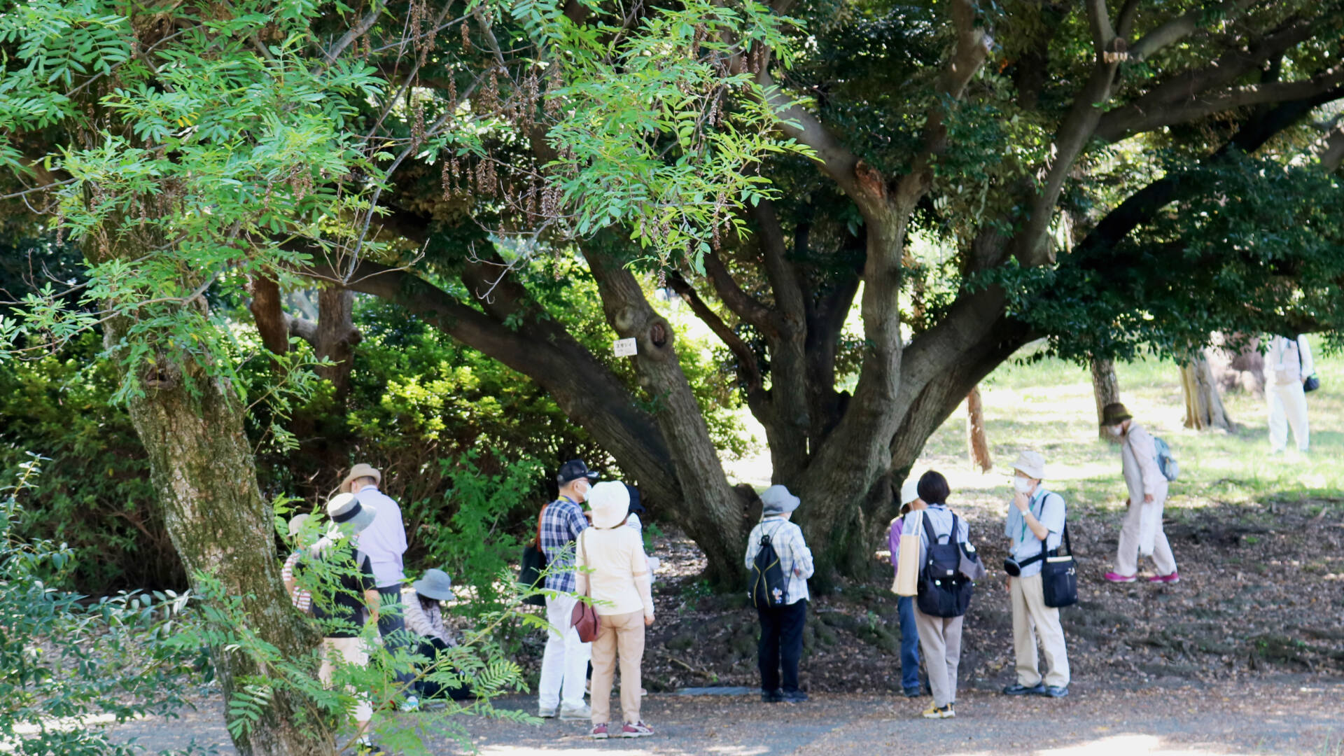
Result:
{"label": "person in light blue shirt and white hat, hand raised to face", "polygon": [[[1064,498],[1048,491],[1046,457],[1025,451],[1013,463],[1013,500],[1008,506],[1004,535],[1009,542],[1008,596],[1012,603],[1012,640],[1017,659],[1017,682],[1004,695],[1068,695],[1068,651],[1059,609],[1046,605],[1040,569],[1046,556],[1058,552],[1064,533]],[[1046,651],[1046,675],[1036,669],[1036,638]]]}

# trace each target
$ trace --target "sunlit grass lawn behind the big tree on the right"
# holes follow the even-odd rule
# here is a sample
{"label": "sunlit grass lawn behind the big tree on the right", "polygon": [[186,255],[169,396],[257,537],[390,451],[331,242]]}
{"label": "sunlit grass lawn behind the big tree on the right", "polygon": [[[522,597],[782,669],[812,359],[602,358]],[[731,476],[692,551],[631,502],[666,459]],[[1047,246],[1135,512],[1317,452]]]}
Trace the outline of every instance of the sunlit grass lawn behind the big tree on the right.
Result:
{"label": "sunlit grass lawn behind the big tree on the right", "polygon": [[[1164,437],[1180,461],[1167,517],[1210,504],[1265,504],[1325,499],[1317,507],[1344,511],[1344,359],[1317,362],[1321,389],[1308,395],[1312,451],[1271,456],[1265,401],[1245,393],[1223,397],[1241,425],[1236,433],[1195,432],[1185,417],[1179,370],[1171,362],[1118,365],[1122,401],[1134,418]],[[995,468],[981,475],[966,452],[965,405],[929,440],[915,474],[934,468],[969,498],[1011,495],[1011,464],[1023,448],[1047,460],[1048,483],[1070,502],[1097,508],[1124,507],[1120,451],[1097,437],[1097,410],[1086,369],[1058,359],[1025,365],[1015,358],[981,385],[985,430]],[[1289,440],[1289,448],[1294,444]],[[1317,510],[1318,513],[1318,510]]]}

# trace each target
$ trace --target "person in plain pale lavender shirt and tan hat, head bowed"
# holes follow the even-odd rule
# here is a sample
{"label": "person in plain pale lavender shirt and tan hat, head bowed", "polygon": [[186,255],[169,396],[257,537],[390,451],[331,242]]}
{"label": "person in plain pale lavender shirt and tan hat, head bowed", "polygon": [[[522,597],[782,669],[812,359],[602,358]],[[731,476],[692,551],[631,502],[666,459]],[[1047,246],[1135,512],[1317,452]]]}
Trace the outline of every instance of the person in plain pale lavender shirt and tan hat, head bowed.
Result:
{"label": "person in plain pale lavender shirt and tan hat, head bowed", "polygon": [[[368,556],[374,565],[374,581],[378,587],[382,611],[378,615],[378,634],[388,650],[398,646],[413,646],[406,631],[406,609],[402,605],[402,556],[406,553],[406,526],[402,525],[402,508],[391,496],[378,490],[383,474],[368,464],[356,464],[340,483],[341,492],[353,494],[359,503],[378,510],[374,523],[359,534],[359,550]],[[401,634],[396,636],[396,634]],[[410,670],[396,673],[396,681],[407,687],[415,679]],[[403,709],[414,710],[419,700],[407,694]]]}

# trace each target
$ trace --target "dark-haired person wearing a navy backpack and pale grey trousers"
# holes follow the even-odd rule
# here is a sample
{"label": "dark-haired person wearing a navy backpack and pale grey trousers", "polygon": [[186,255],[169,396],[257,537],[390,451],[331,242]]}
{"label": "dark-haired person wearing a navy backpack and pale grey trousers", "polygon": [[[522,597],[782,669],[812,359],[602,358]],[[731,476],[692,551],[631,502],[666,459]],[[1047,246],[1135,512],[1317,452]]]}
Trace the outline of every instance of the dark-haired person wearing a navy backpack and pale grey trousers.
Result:
{"label": "dark-haired person wearing a navy backpack and pale grey trousers", "polygon": [[[966,522],[948,508],[952,488],[942,474],[933,469],[925,472],[915,491],[927,506],[923,517],[903,519],[902,533],[919,537],[919,564],[923,565],[915,601],[915,628],[933,689],[933,705],[925,709],[923,717],[948,720],[957,716],[961,620],[969,605],[972,585],[957,576],[957,569],[962,553],[969,550],[970,531]],[[921,521],[918,526],[914,519]],[[899,560],[899,554],[894,558]]]}

